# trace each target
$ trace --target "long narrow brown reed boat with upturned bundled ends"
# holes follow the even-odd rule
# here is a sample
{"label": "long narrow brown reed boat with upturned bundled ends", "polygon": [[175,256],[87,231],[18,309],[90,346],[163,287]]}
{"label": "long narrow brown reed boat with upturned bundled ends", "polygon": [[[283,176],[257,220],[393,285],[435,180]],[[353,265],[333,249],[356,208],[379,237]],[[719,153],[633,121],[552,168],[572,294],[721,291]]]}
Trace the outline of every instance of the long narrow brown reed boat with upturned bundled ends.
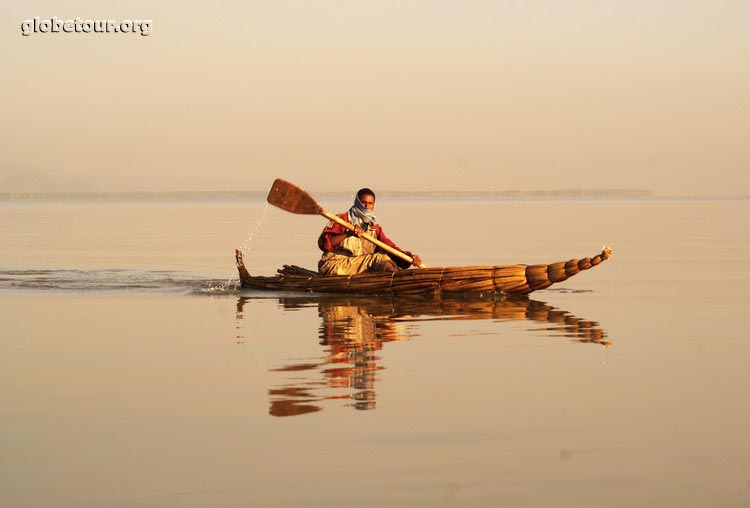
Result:
{"label": "long narrow brown reed boat with upturned bundled ends", "polygon": [[593,257],[551,264],[412,268],[397,272],[355,275],[320,275],[316,271],[299,266],[284,265],[273,276],[257,276],[250,275],[245,267],[242,252],[235,251],[240,284],[243,288],[366,295],[527,295],[567,280],[599,265],[611,256],[612,249],[605,246],[601,253]]}

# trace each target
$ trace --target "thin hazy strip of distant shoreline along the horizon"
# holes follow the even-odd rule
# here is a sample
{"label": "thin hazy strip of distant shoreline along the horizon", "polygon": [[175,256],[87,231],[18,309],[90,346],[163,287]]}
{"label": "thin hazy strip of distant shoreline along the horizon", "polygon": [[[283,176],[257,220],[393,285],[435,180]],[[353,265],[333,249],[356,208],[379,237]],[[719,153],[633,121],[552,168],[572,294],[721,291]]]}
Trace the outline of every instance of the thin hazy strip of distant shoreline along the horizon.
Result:
{"label": "thin hazy strip of distant shoreline along the horizon", "polygon": [[[312,192],[318,200],[348,200],[351,192]],[[265,201],[267,191],[152,191],[152,192],[0,192],[0,202],[211,202]],[[642,189],[565,189],[506,191],[379,191],[393,199],[750,199],[750,195],[654,195]]]}

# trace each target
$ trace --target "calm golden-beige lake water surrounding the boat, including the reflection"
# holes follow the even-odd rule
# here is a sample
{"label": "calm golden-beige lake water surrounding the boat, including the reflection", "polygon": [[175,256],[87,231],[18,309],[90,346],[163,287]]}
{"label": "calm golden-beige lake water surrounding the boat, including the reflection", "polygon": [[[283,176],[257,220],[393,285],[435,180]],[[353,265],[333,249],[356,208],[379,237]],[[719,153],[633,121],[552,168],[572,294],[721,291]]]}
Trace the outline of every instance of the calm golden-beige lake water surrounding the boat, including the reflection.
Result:
{"label": "calm golden-beige lake water surrounding the boat, including the reflection", "polygon": [[324,219],[0,203],[0,506],[750,506],[750,201],[377,211],[430,266],[615,254],[520,302],[269,295],[234,249],[314,268]]}

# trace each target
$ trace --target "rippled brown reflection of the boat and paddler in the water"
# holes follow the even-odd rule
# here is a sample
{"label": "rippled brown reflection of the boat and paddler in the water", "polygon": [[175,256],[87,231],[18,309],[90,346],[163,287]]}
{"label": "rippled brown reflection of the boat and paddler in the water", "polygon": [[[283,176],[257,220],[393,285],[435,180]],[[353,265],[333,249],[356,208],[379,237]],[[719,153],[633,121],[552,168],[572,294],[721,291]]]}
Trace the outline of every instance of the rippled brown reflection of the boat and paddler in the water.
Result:
{"label": "rippled brown reflection of the boat and paddler in the water", "polygon": [[[237,301],[242,319],[250,297]],[[420,335],[419,323],[436,320],[531,321],[547,326],[530,332],[609,347],[607,334],[594,321],[530,299],[440,299],[363,296],[300,296],[279,298],[287,310],[317,307],[320,344],[325,356],[316,362],[291,362],[274,372],[294,373],[268,391],[272,416],[321,411],[325,401],[343,399],[355,409],[374,409],[376,374],[383,369],[377,352],[386,342]],[[465,336],[475,335],[468,332]],[[300,376],[300,373],[307,375]],[[314,374],[313,374],[314,373]]]}

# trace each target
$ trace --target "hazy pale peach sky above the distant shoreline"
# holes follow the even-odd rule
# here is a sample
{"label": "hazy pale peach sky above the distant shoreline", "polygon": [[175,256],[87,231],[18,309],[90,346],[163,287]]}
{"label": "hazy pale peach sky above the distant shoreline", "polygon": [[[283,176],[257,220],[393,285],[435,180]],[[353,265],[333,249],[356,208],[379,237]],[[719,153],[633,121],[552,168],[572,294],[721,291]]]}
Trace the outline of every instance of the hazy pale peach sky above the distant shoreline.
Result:
{"label": "hazy pale peach sky above the distant shoreline", "polygon": [[[22,36],[36,16],[153,25]],[[746,0],[10,0],[0,18],[6,173],[750,193]]]}

